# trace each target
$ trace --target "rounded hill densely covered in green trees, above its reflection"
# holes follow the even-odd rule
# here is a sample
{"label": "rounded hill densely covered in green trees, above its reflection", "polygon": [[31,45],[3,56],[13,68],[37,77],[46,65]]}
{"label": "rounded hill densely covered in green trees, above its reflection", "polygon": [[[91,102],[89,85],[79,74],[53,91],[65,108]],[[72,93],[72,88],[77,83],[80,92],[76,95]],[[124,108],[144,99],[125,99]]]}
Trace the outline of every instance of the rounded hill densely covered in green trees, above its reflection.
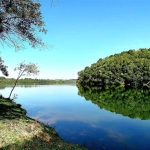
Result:
{"label": "rounded hill densely covered in green trees, above its reflection", "polygon": [[129,50],[99,59],[78,73],[78,85],[143,86],[150,82],[150,49]]}

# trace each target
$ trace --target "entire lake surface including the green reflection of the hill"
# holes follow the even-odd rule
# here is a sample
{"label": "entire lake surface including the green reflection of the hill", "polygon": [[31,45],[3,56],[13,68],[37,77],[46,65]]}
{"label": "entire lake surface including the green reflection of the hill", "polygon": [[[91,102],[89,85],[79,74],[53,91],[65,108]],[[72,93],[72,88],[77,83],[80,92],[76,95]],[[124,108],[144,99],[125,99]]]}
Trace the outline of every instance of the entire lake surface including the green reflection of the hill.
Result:
{"label": "entire lake surface including the green reflection of the hill", "polygon": [[[4,97],[10,91],[11,87],[0,88]],[[89,150],[150,149],[148,91],[94,92],[75,85],[33,85],[17,86],[14,93],[28,116],[55,127],[68,142]]]}

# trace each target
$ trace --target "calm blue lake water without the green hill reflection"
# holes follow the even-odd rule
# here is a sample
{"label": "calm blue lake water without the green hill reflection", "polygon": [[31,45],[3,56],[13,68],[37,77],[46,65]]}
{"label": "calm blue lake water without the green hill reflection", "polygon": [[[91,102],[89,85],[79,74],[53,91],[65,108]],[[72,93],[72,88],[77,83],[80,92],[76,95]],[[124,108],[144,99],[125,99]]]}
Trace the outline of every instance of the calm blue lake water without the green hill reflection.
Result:
{"label": "calm blue lake water without the green hill reflection", "polygon": [[[8,97],[10,90],[5,87],[0,92]],[[150,149],[149,119],[131,119],[100,108],[79,96],[76,86],[18,86],[14,93],[28,116],[55,127],[68,142],[86,144],[91,150]]]}

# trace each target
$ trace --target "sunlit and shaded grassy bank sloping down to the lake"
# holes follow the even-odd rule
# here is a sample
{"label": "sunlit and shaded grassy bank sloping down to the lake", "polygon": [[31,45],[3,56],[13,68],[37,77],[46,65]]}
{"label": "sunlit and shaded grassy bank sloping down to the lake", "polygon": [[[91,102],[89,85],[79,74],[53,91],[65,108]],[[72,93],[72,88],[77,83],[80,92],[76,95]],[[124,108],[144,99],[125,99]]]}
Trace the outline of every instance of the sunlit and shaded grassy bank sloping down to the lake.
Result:
{"label": "sunlit and shaded grassy bank sloping down to the lake", "polygon": [[26,116],[20,104],[0,98],[0,150],[86,150],[61,139],[54,128]]}

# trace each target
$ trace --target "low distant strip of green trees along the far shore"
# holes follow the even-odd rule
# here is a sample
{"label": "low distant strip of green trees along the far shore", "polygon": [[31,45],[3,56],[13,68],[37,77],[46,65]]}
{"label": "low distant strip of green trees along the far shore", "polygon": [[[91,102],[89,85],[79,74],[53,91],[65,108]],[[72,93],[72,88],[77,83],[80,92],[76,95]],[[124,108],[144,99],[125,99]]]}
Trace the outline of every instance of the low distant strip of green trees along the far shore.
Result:
{"label": "low distant strip of green trees along the far shore", "polygon": [[[0,77],[0,85],[14,85],[16,79],[14,78],[5,78],[5,77]],[[17,84],[21,85],[46,85],[46,84],[75,84],[76,80],[75,79],[70,79],[70,80],[49,80],[49,79],[31,79],[31,78],[24,78],[24,79],[19,79]]]}

